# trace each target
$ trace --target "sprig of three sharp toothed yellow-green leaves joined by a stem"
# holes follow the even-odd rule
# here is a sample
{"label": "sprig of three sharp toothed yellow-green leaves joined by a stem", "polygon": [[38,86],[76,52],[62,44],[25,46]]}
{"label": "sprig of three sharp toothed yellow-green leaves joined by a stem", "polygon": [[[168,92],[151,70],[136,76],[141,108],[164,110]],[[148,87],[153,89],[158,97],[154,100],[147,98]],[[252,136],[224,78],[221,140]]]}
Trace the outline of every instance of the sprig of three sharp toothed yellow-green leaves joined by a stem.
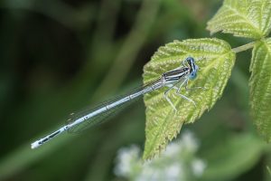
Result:
{"label": "sprig of three sharp toothed yellow-green leaves joined by a stem", "polygon": [[151,62],[145,65],[144,81],[153,81],[163,72],[173,70],[188,56],[196,59],[200,76],[190,82],[191,87],[205,87],[207,90],[184,91],[182,94],[197,102],[178,98],[173,91],[170,100],[177,108],[174,112],[164,99],[164,90],[156,90],[145,96],[146,140],[144,158],[151,158],[165,148],[180,132],[183,123],[194,122],[205,110],[210,110],[229,79],[235,61],[235,52],[242,52],[255,46],[250,71],[251,107],[257,129],[271,140],[271,41],[264,38],[271,30],[271,1],[269,0],[225,0],[217,14],[208,23],[210,33],[233,33],[235,36],[261,40],[238,48],[218,39],[186,40],[168,43],[156,52]]}

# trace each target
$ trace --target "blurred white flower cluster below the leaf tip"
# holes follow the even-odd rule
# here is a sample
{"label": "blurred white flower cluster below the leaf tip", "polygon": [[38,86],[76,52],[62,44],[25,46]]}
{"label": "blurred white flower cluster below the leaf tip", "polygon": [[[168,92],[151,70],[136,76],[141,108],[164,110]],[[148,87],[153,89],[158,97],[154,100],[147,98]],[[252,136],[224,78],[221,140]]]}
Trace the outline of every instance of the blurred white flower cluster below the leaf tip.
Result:
{"label": "blurred white flower cluster below the leaf tip", "polygon": [[160,157],[145,163],[137,146],[120,148],[114,171],[117,176],[135,181],[194,180],[202,175],[206,167],[205,162],[195,156],[198,148],[198,141],[189,131],[169,144]]}

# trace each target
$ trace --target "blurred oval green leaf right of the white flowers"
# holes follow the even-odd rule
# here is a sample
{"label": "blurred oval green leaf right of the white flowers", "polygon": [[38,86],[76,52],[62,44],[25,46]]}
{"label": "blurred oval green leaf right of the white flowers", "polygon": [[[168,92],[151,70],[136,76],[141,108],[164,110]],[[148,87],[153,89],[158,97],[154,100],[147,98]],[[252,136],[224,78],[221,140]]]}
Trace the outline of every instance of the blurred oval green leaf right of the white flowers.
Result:
{"label": "blurred oval green leaf right of the white flowers", "polygon": [[208,149],[202,157],[208,160],[203,180],[232,180],[253,167],[265,145],[252,134],[232,135]]}

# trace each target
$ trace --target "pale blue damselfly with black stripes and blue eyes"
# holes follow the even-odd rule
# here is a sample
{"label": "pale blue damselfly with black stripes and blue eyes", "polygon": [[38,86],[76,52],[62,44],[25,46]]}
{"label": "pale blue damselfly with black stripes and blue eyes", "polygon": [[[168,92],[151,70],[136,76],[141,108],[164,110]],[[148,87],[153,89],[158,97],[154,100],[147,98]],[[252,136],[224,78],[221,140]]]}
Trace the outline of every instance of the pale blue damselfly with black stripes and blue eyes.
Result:
{"label": "pale blue damselfly with black stripes and blue eyes", "polygon": [[[176,90],[176,93],[180,95],[183,99],[189,100],[195,105],[195,102],[182,95],[180,93],[180,90],[182,86],[185,86],[185,89],[187,89],[188,81],[196,78],[198,70],[199,67],[196,65],[195,60],[192,57],[188,57],[182,62],[182,65],[180,67],[177,67],[172,71],[164,72],[160,78],[145,84],[145,86],[136,89],[126,94],[125,96],[120,96],[117,99],[109,100],[106,103],[97,106],[93,110],[86,112],[85,114],[73,115],[73,119],[70,120],[70,123],[52,132],[48,136],[36,140],[31,144],[31,148],[40,147],[43,143],[51,140],[51,138],[60,135],[66,130],[70,132],[77,132],[81,129],[86,129],[94,126],[106,119],[108,115],[111,115],[126,103],[131,102],[131,100],[135,100],[136,98],[139,98],[145,93],[153,90],[158,90],[162,87],[169,88],[168,90],[164,91],[164,98],[169,102],[173,110],[177,111],[173,105],[172,100],[170,100],[168,97],[169,90],[173,89]],[[180,86],[177,87],[177,85]]]}

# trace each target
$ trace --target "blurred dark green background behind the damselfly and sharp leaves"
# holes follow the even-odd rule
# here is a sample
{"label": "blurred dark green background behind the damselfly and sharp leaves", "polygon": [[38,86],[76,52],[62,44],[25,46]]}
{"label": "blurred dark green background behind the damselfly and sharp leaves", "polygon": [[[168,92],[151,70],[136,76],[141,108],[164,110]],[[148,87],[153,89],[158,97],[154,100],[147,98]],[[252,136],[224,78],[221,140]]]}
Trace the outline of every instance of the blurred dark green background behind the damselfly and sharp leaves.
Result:
{"label": "blurred dark green background behind the damselfly and sharp leaves", "polygon": [[[2,0],[0,180],[120,180],[117,149],[144,148],[143,101],[79,135],[31,150],[70,112],[131,90],[159,46],[209,37],[220,0]],[[216,34],[232,47],[248,40]],[[238,54],[222,98],[183,129],[201,141],[200,180],[271,180],[270,147],[249,116],[251,52]],[[182,130],[183,130],[182,129]]]}

